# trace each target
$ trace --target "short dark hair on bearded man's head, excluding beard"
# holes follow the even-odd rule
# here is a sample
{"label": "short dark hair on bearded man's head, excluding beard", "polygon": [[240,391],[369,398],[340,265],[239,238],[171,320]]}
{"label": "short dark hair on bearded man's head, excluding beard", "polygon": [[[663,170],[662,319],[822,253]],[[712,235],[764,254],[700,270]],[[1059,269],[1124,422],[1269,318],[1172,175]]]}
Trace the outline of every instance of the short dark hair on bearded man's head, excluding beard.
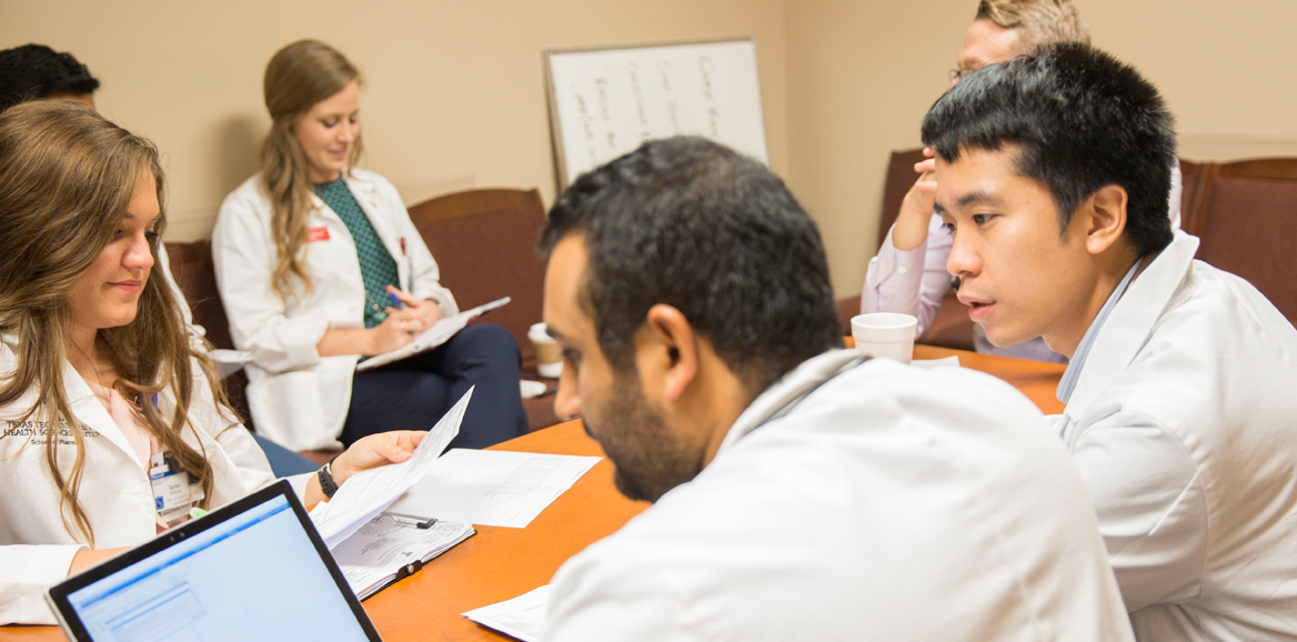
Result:
{"label": "short dark hair on bearded man's head, excluding beard", "polygon": [[769,169],[722,145],[648,141],[582,174],[550,210],[541,253],[571,232],[585,233],[582,306],[615,368],[658,303],[751,392],[842,346],[815,222]]}

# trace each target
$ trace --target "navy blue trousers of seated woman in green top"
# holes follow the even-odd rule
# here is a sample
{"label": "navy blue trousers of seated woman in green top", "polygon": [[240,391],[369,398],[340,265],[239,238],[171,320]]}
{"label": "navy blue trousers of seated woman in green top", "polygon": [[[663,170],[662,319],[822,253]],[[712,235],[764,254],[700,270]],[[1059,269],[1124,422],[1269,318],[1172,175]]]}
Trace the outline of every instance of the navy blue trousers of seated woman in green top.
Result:
{"label": "navy blue trousers of seated woman in green top", "polygon": [[340,441],[387,431],[427,431],[473,388],[459,436],[450,447],[486,447],[527,434],[518,390],[521,353],[499,326],[459,331],[436,350],[357,372]]}

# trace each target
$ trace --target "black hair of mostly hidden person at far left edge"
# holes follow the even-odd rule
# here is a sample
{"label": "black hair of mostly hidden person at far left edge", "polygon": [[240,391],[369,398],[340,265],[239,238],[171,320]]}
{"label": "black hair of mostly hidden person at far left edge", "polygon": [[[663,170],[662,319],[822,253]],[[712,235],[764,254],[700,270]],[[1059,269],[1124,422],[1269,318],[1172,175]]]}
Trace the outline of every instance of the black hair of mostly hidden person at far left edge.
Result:
{"label": "black hair of mostly hidden person at far left edge", "polygon": [[99,80],[71,53],[43,44],[0,51],[0,112],[56,93],[95,93]]}

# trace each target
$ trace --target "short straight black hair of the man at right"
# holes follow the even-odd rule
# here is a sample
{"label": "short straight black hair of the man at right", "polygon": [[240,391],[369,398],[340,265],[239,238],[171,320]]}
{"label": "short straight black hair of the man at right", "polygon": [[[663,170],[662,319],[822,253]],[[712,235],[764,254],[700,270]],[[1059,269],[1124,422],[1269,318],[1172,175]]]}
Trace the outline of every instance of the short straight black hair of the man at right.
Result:
{"label": "short straight black hair of the man at right", "polygon": [[961,149],[1018,145],[1018,172],[1049,185],[1064,228],[1083,200],[1121,185],[1136,252],[1171,243],[1171,113],[1139,71],[1089,45],[1051,44],[970,73],[923,118],[923,144],[951,162]]}

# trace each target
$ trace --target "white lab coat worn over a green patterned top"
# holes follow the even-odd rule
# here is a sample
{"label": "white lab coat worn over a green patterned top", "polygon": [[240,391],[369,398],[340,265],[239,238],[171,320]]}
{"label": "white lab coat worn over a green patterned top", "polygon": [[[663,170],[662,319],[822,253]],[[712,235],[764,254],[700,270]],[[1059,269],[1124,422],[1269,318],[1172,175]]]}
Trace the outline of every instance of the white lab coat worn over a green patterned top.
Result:
{"label": "white lab coat worn over a green patterned top", "polygon": [[[444,314],[459,311],[437,283],[437,263],[424,245],[392,183],[350,170],[346,185],[397,263],[401,289],[436,301]],[[257,432],[292,450],[332,447],[351,402],[358,357],[320,357],[315,344],[329,328],[364,327],[364,283],[355,243],[342,219],[314,195],[307,228],[306,268],[314,291],[284,302],[271,287],[278,252],[271,236],[270,200],[261,174],[239,185],[220,205],[211,256],[230,335],[253,354],[248,405]],[[381,303],[381,302],[380,302]]]}

